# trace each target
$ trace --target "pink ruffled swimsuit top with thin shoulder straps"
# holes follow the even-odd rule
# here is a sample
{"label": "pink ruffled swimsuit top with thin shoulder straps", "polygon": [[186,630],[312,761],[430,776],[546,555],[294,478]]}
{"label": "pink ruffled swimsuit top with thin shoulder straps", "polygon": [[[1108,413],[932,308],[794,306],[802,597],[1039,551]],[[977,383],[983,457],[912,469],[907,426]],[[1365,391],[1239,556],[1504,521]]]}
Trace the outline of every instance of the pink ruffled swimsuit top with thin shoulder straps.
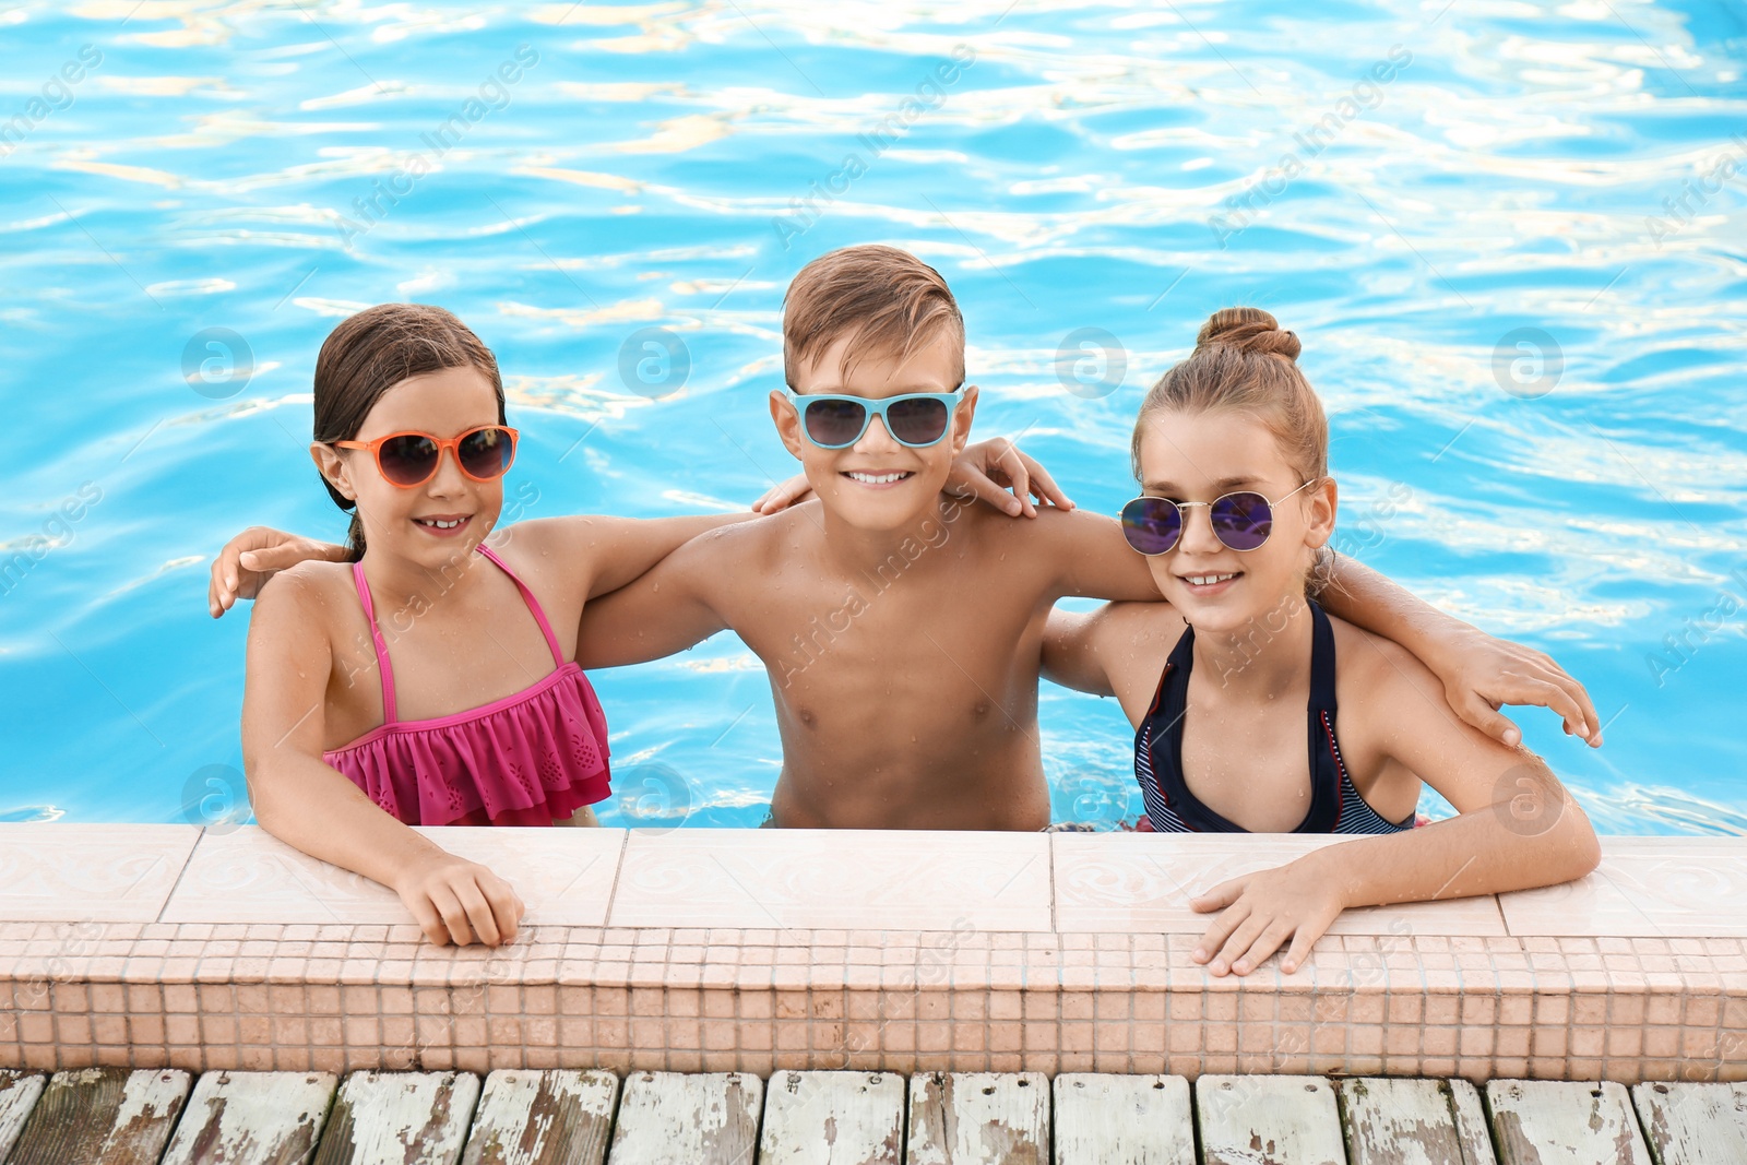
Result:
{"label": "pink ruffled swimsuit top with thin shoulder straps", "polygon": [[433,720],[395,718],[395,669],[376,625],[363,562],[351,576],[376,641],[383,676],[383,725],[321,760],[407,824],[552,824],[611,793],[606,714],[594,685],[559,651],[545,611],[528,585],[484,543],[552,648],[552,674],[482,707]]}

